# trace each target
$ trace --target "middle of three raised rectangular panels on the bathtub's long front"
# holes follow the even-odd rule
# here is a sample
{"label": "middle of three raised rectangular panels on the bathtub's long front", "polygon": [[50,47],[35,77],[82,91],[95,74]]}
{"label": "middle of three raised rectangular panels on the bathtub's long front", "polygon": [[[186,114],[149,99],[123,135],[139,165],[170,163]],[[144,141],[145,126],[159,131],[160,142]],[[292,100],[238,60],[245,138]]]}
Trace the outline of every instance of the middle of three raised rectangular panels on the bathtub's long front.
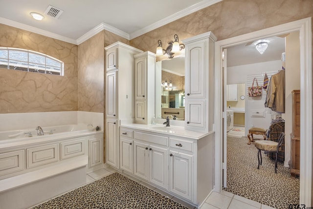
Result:
{"label": "middle of three raised rectangular panels on the bathtub's long front", "polygon": [[26,149],[27,168],[59,161],[59,144]]}

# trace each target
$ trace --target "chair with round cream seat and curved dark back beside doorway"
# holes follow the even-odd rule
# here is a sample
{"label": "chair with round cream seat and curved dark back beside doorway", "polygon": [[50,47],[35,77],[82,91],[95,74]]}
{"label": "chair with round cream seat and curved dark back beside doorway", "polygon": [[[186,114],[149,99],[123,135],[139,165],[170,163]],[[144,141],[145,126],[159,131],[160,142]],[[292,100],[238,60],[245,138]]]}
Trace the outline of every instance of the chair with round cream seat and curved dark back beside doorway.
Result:
{"label": "chair with round cream seat and curved dark back beside doorway", "polygon": [[261,150],[266,152],[275,153],[275,173],[277,173],[277,155],[281,151],[281,145],[284,142],[285,134],[282,132],[279,136],[278,142],[271,140],[257,140],[254,142],[255,147],[258,149],[258,169],[262,165],[262,154]]}

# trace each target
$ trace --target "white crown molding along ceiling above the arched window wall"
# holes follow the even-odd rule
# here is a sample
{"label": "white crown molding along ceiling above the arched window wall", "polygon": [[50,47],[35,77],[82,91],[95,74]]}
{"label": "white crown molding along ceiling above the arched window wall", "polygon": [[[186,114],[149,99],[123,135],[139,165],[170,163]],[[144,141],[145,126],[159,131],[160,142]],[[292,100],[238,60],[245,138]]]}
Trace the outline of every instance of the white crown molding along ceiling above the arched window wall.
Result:
{"label": "white crown molding along ceiling above the arched window wall", "polygon": [[74,39],[70,39],[70,38],[67,38],[65,36],[58,35],[56,33],[51,33],[49,31],[46,31],[46,30],[43,30],[43,29],[39,29],[37,27],[33,27],[33,26],[30,26],[30,25],[27,25],[27,24],[19,23],[19,22],[8,20],[8,19],[1,18],[1,17],[0,17],[0,23],[6,24],[6,25],[9,25],[9,26],[12,26],[12,27],[20,28],[22,30],[27,30],[27,31],[30,31],[32,33],[37,33],[37,34],[40,34],[40,35],[43,35],[43,36],[47,36],[47,37],[50,37],[50,38],[54,38],[54,39],[57,39],[57,40],[60,40],[60,41],[64,41],[64,42],[67,42],[67,43],[71,43],[71,44],[77,45],[77,42]]}

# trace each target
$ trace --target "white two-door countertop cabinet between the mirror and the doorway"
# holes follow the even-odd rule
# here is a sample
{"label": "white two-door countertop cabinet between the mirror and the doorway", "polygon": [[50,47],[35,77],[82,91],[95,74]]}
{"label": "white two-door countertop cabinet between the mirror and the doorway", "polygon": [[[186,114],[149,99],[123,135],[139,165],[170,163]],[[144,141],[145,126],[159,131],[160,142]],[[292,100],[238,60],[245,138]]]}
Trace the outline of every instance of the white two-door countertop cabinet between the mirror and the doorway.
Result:
{"label": "white two-door countertop cabinet between the mirror and the doorway", "polygon": [[[185,44],[185,129],[213,130],[214,43],[212,32],[183,40]],[[209,99],[211,98],[211,99]]]}

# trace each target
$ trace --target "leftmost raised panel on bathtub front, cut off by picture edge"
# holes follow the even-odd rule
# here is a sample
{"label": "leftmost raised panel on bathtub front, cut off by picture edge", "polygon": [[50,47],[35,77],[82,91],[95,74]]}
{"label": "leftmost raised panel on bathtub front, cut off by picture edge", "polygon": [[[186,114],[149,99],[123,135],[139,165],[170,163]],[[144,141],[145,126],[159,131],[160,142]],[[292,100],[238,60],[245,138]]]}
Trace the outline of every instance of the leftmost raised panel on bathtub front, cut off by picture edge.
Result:
{"label": "leftmost raised panel on bathtub front, cut off by picture edge", "polygon": [[0,175],[24,169],[24,150],[0,154]]}

